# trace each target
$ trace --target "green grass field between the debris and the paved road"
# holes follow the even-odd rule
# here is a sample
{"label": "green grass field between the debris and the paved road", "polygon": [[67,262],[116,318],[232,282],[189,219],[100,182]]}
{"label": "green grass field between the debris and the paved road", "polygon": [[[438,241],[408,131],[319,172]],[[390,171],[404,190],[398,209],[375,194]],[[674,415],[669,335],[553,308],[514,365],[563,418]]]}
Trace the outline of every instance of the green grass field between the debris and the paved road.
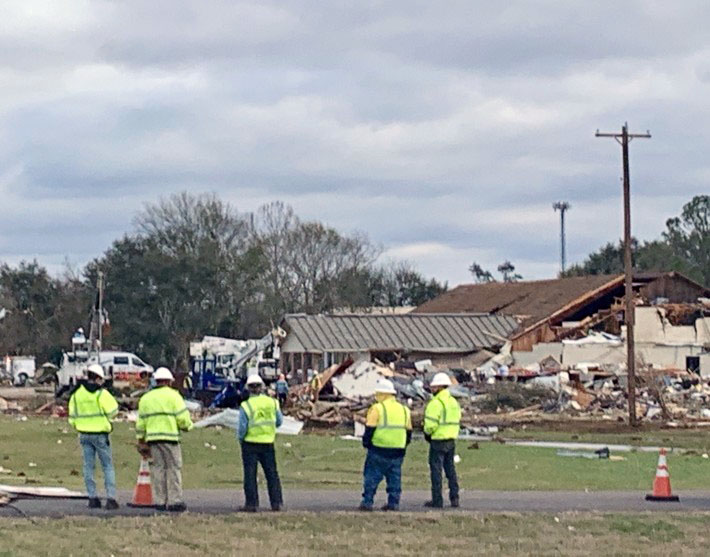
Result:
{"label": "green grass field between the debris and the paved road", "polygon": [[[544,432],[526,433],[544,437]],[[675,433],[644,435],[659,435],[663,441]],[[682,433],[676,438],[678,442],[668,445],[704,446],[704,432],[695,436],[678,433]],[[611,443],[619,439],[607,435],[605,440]],[[641,441],[653,442],[647,437]],[[138,457],[129,424],[117,424],[112,443],[118,486],[131,489],[136,481]],[[276,445],[285,489],[358,490],[361,486],[364,450],[356,441],[310,434],[280,436]],[[479,443],[478,449],[470,446],[468,442],[458,446],[462,459],[458,471],[465,489],[646,490],[651,486],[657,462],[655,454],[637,452],[619,453],[626,460],[612,462],[563,458],[554,449],[510,447],[495,442]],[[404,489],[428,488],[426,451],[423,441],[412,443],[403,470]],[[184,437],[183,457],[186,488],[240,488],[241,459],[231,430],[189,432]],[[77,437],[62,420],[23,422],[0,416],[0,466],[12,471],[0,472],[0,483],[83,488]],[[669,466],[675,489],[710,488],[710,459],[702,458],[700,450],[670,456]]]}

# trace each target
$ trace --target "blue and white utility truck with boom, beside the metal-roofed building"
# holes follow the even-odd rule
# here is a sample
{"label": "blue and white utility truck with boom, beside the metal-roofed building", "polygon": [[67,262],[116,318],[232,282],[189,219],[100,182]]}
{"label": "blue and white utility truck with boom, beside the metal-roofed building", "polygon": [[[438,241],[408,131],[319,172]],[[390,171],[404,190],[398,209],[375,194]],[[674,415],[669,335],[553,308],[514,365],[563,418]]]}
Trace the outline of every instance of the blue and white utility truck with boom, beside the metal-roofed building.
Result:
{"label": "blue and white utility truck with boom, beside the metal-roofed building", "polygon": [[250,375],[258,374],[267,385],[278,378],[276,340],[283,336],[285,332],[277,328],[260,339],[205,336],[201,341],[191,342],[185,389],[210,408],[238,404]]}

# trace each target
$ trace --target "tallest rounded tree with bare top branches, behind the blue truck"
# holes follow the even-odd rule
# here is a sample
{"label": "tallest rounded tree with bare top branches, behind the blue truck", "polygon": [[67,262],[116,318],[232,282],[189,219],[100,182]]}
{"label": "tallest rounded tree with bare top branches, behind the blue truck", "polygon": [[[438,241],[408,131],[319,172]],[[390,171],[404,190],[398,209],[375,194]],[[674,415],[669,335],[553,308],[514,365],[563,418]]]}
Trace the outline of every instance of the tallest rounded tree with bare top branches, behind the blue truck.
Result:
{"label": "tallest rounded tree with bare top branches, behind the blue truck", "polygon": [[254,305],[260,257],[247,217],[213,195],[181,193],[135,222],[137,234],[87,269],[90,280],[99,268],[106,275],[107,341],[181,367],[191,340],[251,332],[241,318]]}

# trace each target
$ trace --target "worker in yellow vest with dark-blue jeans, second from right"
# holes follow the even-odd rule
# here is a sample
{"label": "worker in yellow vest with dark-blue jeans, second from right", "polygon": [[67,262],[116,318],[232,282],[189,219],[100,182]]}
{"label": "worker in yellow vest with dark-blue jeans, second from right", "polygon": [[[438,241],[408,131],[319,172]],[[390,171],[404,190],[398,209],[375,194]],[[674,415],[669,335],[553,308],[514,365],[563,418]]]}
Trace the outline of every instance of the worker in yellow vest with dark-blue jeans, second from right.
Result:
{"label": "worker in yellow vest with dark-blue jeans, second from right", "polygon": [[399,510],[402,494],[402,462],[412,440],[409,408],[395,399],[397,391],[389,379],[380,379],[375,404],[367,412],[362,445],[367,449],[363,470],[361,511],[371,511],[382,478],[387,480],[387,504],[383,511]]}

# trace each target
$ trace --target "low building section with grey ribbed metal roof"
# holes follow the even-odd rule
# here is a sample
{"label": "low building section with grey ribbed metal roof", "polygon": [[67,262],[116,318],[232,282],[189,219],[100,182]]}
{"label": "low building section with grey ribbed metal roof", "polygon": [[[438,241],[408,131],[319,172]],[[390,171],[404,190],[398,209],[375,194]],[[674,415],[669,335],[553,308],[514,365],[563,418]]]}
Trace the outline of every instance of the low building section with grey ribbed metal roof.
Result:
{"label": "low building section with grey ribbed metal roof", "polygon": [[348,359],[414,362],[472,369],[488,360],[518,328],[509,315],[286,315],[281,369],[322,370]]}

